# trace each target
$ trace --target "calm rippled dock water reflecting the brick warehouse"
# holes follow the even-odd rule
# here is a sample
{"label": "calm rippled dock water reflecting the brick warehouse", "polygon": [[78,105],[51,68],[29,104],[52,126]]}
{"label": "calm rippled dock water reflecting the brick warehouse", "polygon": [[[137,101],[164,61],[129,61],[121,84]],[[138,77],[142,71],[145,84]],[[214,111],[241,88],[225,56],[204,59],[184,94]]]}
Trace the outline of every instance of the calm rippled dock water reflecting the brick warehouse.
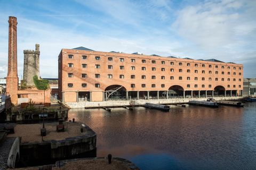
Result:
{"label": "calm rippled dock water reflecting the brick warehouse", "polygon": [[123,157],[140,169],[256,169],[256,103],[71,109],[72,118],[97,133],[98,157]]}

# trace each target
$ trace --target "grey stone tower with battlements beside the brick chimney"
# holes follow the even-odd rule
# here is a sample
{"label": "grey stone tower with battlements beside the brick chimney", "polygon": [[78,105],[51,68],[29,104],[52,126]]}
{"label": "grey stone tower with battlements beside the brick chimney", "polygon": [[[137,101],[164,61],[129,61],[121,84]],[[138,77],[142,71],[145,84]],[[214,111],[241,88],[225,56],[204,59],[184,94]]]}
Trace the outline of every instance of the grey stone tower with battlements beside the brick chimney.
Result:
{"label": "grey stone tower with battlements beside the brick chimney", "polygon": [[36,50],[24,50],[23,82],[27,86],[35,86],[33,77],[39,78],[39,44],[36,44]]}

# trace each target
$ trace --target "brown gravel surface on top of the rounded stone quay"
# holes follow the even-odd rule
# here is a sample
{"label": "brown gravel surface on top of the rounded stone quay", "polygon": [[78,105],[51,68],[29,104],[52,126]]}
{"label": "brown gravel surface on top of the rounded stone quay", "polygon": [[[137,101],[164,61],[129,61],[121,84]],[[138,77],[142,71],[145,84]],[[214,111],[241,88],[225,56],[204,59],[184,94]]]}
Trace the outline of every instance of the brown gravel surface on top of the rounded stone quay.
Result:
{"label": "brown gravel surface on top of the rounded stone quay", "polygon": [[[43,140],[63,140],[65,138],[77,137],[81,134],[81,123],[65,122],[65,132],[57,132],[56,125],[58,122],[45,123],[46,136]],[[68,128],[67,128],[68,126]],[[9,134],[7,137],[21,137],[23,142],[39,142],[42,141],[41,131],[43,124],[17,124],[14,128],[14,134]]]}

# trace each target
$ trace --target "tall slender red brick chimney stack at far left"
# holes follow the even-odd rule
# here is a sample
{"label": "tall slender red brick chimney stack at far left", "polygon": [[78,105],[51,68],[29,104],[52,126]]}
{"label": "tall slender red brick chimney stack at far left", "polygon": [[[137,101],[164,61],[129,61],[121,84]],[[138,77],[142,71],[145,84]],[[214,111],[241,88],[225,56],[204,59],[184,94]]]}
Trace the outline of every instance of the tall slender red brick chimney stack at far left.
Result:
{"label": "tall slender red brick chimney stack at far left", "polygon": [[6,92],[11,96],[12,103],[18,104],[18,71],[17,71],[17,18],[9,16],[8,73]]}

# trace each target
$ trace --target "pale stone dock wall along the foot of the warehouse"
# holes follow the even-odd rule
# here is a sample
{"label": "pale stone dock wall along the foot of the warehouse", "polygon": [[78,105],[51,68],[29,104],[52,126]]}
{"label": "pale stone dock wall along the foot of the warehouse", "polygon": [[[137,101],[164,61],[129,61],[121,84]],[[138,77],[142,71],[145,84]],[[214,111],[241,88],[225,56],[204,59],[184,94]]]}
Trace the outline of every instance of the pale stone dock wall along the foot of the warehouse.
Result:
{"label": "pale stone dock wall along the foot of the warehouse", "polygon": [[[234,100],[243,97],[214,97],[215,100]],[[65,103],[70,108],[90,108],[90,107],[116,107],[129,105],[145,105],[146,103],[154,104],[177,104],[188,103],[189,100],[206,100],[207,98],[171,98],[171,99],[149,99],[149,100],[110,100],[110,101],[79,101]]]}

